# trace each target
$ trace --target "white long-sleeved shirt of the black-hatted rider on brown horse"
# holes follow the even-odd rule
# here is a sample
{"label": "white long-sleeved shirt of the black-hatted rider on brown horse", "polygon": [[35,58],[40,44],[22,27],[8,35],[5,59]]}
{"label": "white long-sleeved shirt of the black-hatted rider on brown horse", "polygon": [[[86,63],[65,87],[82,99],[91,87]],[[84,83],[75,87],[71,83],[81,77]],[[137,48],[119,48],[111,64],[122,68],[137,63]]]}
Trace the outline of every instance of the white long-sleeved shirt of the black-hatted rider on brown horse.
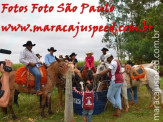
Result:
{"label": "white long-sleeved shirt of the black-hatted rider on brown horse", "polygon": [[32,62],[32,63],[38,63],[38,62],[40,62],[40,60],[38,59],[38,57],[36,56],[36,54],[34,54],[33,51],[29,51],[27,48],[25,48],[20,53],[19,61],[20,61],[20,63],[22,63],[24,65],[28,65],[29,62]]}

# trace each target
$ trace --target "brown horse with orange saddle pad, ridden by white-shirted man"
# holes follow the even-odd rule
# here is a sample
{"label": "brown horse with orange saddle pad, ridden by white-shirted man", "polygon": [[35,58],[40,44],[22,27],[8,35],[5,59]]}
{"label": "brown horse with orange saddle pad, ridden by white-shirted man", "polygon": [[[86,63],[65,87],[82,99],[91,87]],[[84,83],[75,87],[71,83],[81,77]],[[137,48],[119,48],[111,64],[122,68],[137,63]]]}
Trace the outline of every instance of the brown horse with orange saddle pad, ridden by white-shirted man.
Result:
{"label": "brown horse with orange saddle pad, ridden by white-shirted man", "polygon": [[[41,116],[43,118],[46,117],[44,114],[46,97],[48,98],[48,113],[52,114],[52,111],[51,111],[51,92],[53,91],[55,86],[57,86],[59,89],[58,90],[59,96],[62,95],[62,87],[63,87],[62,84],[64,84],[64,83],[61,80],[61,78],[62,79],[65,78],[65,75],[66,75],[66,72],[68,71],[68,68],[69,68],[68,63],[65,63],[63,61],[52,63],[47,68],[47,71],[46,71],[47,83],[46,83],[45,87],[41,88],[41,91],[43,92],[42,102],[41,102],[41,105],[42,105]],[[23,92],[23,93],[35,94],[34,88],[28,89],[27,87],[22,87],[22,85],[15,83],[15,80],[14,80],[15,73],[16,73],[16,71],[12,71],[10,73],[11,94],[10,94],[10,100],[9,100],[9,104],[8,104],[8,107],[12,113],[13,119],[17,119],[17,117],[13,111],[13,108],[12,108],[12,100],[13,100],[15,90],[18,90],[18,91]]]}

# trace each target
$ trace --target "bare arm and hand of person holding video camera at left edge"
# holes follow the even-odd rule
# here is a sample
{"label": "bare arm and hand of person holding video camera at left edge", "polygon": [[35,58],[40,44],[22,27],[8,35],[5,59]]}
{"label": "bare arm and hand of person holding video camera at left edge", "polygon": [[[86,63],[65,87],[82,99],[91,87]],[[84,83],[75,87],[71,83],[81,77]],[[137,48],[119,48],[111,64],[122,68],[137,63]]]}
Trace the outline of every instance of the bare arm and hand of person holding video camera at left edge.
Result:
{"label": "bare arm and hand of person holding video camera at left edge", "polygon": [[[12,67],[10,60],[5,60],[6,66]],[[9,87],[9,72],[6,72],[3,68],[3,64],[0,66],[0,72],[2,73],[0,89],[0,107],[6,107],[9,102],[10,87]]]}

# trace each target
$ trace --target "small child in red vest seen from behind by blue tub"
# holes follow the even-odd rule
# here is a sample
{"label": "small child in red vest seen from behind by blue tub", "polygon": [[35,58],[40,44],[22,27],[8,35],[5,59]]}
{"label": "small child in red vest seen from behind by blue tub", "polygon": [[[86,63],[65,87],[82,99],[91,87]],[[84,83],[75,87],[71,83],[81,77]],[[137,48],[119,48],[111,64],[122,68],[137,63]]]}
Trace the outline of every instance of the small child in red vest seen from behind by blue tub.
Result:
{"label": "small child in red vest seen from behind by blue tub", "polygon": [[[94,109],[94,92],[91,84],[86,85],[86,91],[77,91],[75,87],[73,90],[83,96],[82,98],[82,108],[83,108],[83,120],[84,122],[91,122],[92,114]],[[88,117],[87,117],[88,116]]]}

